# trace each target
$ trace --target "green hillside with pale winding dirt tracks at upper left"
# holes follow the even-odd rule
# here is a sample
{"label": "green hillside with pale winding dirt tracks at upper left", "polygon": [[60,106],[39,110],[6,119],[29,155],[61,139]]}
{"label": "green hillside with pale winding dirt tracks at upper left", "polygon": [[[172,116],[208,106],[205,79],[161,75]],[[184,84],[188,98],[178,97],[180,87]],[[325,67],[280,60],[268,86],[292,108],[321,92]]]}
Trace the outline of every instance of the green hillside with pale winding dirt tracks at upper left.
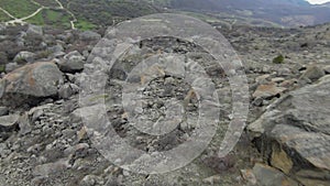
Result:
{"label": "green hillside with pale winding dirt tracks at upper left", "polygon": [[144,0],[0,0],[0,22],[90,30],[161,12]]}

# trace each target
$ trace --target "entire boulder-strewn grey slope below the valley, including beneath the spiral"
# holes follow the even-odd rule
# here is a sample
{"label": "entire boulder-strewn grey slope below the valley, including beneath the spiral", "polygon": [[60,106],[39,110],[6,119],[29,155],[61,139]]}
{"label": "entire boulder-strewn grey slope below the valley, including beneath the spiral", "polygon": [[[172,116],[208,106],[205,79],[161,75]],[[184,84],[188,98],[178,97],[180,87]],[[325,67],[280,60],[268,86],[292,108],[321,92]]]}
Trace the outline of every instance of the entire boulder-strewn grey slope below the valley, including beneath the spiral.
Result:
{"label": "entire boulder-strewn grey slope below the valley, including beneath the spiral", "polygon": [[[227,75],[194,42],[207,33],[121,43],[1,25],[0,186],[329,186],[329,28],[221,28],[238,54],[220,42]],[[240,141],[218,156],[227,134]]]}

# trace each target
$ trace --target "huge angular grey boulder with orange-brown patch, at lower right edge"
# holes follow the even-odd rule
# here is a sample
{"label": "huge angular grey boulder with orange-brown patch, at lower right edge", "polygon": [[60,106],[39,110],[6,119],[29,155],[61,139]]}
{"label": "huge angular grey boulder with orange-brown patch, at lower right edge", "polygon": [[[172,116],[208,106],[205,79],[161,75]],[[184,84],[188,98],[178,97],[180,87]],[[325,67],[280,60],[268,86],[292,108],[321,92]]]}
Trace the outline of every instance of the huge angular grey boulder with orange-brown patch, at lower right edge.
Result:
{"label": "huge angular grey boulder with orange-brown patch, at lower right edge", "polygon": [[[289,92],[248,127],[271,164],[284,173],[318,169],[305,185],[330,182],[330,76]],[[311,183],[311,184],[310,184]]]}

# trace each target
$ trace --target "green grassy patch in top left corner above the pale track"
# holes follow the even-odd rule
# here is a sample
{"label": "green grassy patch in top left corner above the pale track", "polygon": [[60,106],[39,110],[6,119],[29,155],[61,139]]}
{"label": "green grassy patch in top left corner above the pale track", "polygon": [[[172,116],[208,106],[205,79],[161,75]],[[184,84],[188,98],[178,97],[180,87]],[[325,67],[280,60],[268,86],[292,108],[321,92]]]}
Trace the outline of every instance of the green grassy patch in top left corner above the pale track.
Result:
{"label": "green grassy patch in top left corner above the pale track", "polygon": [[0,0],[0,7],[15,18],[28,17],[40,8],[30,0]]}

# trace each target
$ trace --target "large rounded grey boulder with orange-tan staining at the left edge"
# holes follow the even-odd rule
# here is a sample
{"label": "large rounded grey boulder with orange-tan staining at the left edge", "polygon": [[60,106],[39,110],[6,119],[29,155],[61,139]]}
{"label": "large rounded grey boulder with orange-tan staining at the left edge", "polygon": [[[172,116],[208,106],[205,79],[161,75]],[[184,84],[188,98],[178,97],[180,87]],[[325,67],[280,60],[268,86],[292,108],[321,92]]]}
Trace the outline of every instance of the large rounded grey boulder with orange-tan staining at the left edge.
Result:
{"label": "large rounded grey boulder with orange-tan staining at the left edge", "polygon": [[25,65],[0,80],[0,98],[6,106],[35,103],[37,98],[57,95],[63,74],[52,62]]}

